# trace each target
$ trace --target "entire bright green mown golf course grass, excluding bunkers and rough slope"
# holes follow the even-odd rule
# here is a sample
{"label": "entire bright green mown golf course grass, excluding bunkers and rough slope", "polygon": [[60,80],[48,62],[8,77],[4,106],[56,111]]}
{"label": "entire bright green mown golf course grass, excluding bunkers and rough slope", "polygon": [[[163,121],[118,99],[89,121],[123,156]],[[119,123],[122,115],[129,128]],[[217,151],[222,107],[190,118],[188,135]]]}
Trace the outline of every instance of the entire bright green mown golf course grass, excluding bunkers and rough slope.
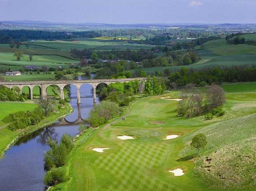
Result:
{"label": "entire bright green mown golf course grass, excluding bunkers and rough slope", "polygon": [[[233,85],[233,88],[236,87]],[[178,92],[164,96],[178,98]],[[208,188],[194,176],[193,163],[180,160],[184,139],[210,124],[256,112],[255,93],[226,94],[226,114],[205,121],[204,117],[184,119],[176,117],[176,101],[161,96],[142,98],[132,105],[125,120],[108,128],[88,131],[72,151],[68,165],[70,181],[61,184],[63,190],[218,190]],[[162,96],[162,97],[164,97]],[[242,104],[242,105],[241,105]],[[247,104],[244,106],[243,104]],[[250,108],[252,106],[252,108]],[[239,108],[250,108],[242,109]],[[150,121],[163,121],[151,124]],[[133,135],[136,140],[119,140],[118,135]],[[182,134],[174,140],[162,140],[168,134]],[[232,133],[235,134],[234,132]],[[245,135],[244,135],[245,136]],[[222,132],[222,138],[225,138]],[[228,138],[226,138],[228,139]],[[236,138],[234,138],[236,139]],[[233,140],[234,140],[233,139]],[[229,139],[228,139],[229,140]],[[232,139],[229,140],[230,142]],[[214,142],[214,140],[212,140]],[[221,140],[218,142],[221,144]],[[110,148],[104,153],[92,148]],[[188,148],[188,154],[196,153]],[[184,155],[186,156],[186,155]],[[180,167],[185,175],[174,177],[168,172]]]}

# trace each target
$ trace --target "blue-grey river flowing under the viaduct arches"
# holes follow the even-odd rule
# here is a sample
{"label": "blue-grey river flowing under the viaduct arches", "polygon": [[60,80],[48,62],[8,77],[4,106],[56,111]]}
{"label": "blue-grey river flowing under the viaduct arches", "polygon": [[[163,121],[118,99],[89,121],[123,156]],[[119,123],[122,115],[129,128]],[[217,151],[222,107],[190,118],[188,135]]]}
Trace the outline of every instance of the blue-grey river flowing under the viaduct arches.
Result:
{"label": "blue-grey river flowing under the viaduct arches", "polygon": [[[76,96],[76,87],[72,85],[70,95]],[[83,85],[80,88],[80,95],[93,95],[92,86]],[[65,117],[69,122],[74,122],[78,118],[76,102],[76,99],[70,100],[74,111]],[[93,98],[81,98],[81,102],[81,118],[85,119],[94,106]],[[96,102],[99,102],[98,97]],[[43,158],[44,153],[49,150],[46,138],[50,136],[59,141],[65,133],[76,135],[78,128],[78,124],[56,123],[22,137],[0,160],[0,191],[44,191],[43,179],[46,171]]]}

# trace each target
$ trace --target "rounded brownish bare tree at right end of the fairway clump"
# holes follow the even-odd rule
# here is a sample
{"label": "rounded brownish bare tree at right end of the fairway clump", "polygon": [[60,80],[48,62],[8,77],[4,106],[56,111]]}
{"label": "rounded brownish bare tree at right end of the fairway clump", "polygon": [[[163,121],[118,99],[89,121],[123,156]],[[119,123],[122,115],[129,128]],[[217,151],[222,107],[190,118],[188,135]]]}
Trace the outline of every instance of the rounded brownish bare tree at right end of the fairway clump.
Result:
{"label": "rounded brownish bare tree at right end of the fairway clump", "polygon": [[211,85],[207,91],[207,99],[211,108],[217,108],[225,103],[224,89],[218,85]]}

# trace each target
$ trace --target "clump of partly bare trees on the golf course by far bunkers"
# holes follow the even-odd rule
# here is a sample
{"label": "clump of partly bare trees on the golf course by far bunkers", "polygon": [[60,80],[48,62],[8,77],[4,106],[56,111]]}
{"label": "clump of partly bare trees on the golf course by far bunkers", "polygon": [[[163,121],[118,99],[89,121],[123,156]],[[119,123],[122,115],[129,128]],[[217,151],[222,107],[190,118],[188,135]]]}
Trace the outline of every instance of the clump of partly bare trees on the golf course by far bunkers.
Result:
{"label": "clump of partly bare trees on the golf course by far bunkers", "polygon": [[212,112],[218,113],[218,116],[223,115],[223,112],[216,110],[225,102],[224,90],[215,84],[212,84],[207,90],[206,95],[189,83],[184,87],[180,95],[181,101],[178,104],[178,116],[200,116],[203,113]]}

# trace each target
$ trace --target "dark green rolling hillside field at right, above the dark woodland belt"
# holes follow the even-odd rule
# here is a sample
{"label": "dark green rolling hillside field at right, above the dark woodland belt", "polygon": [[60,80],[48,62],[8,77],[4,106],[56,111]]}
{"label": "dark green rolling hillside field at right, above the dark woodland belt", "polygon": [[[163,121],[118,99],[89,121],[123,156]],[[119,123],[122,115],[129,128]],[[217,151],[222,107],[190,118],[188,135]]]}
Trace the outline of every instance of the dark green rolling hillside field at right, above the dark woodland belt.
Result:
{"label": "dark green rolling hillside field at right, above the dark woodland belt", "polygon": [[[252,38],[256,36],[252,35]],[[247,35],[248,38],[250,35]],[[225,39],[217,39],[204,43],[205,49],[196,47],[196,53],[202,58],[198,63],[186,66],[169,66],[169,67],[153,67],[144,68],[142,70],[147,73],[154,71],[164,71],[164,69],[172,69],[178,71],[181,67],[190,69],[203,69],[210,67],[232,67],[240,65],[256,65],[256,46],[247,44],[228,45]]]}

